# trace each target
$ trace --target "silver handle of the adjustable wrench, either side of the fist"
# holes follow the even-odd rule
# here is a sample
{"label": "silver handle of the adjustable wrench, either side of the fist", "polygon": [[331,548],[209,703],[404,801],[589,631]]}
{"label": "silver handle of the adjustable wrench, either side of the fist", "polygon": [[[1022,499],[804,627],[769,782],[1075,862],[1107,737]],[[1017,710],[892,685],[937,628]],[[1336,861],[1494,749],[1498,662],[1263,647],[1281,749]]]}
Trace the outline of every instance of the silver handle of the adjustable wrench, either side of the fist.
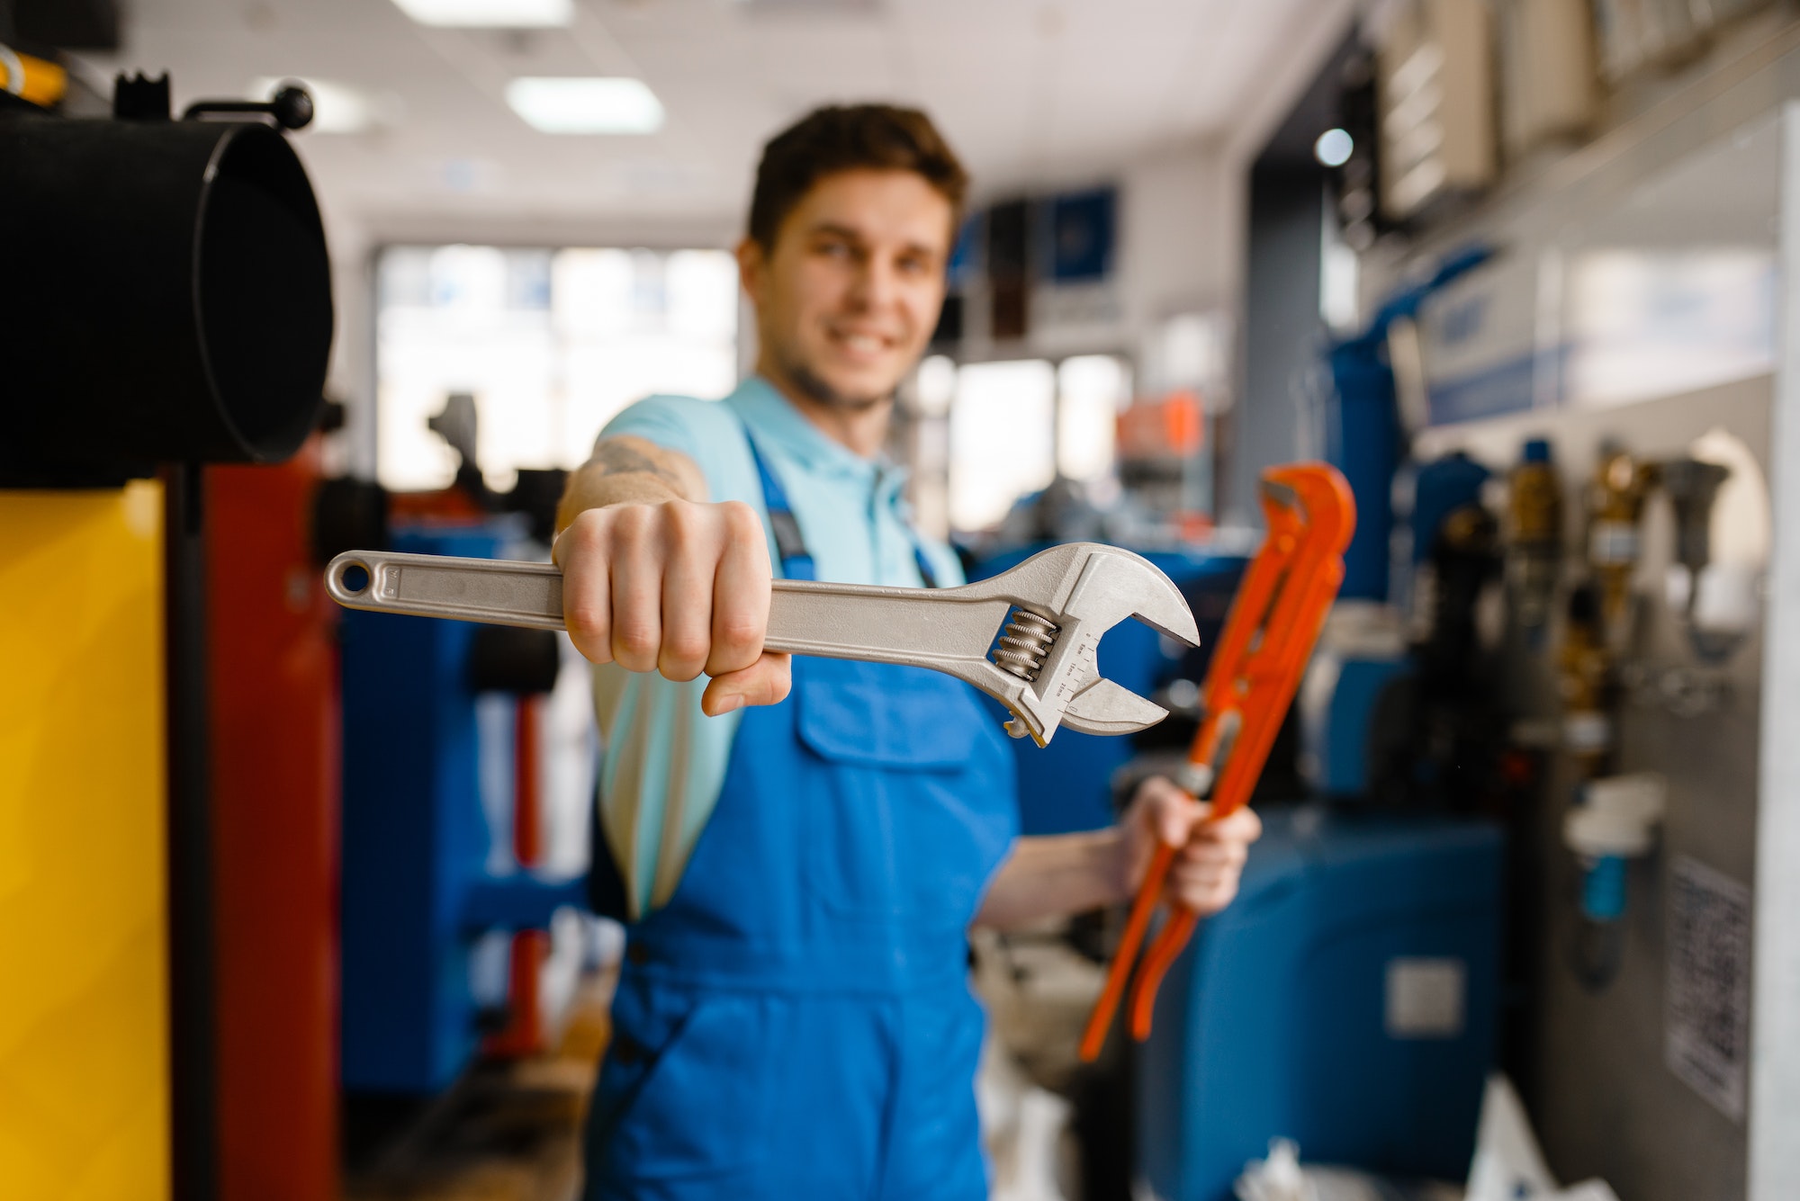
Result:
{"label": "silver handle of the adjustable wrench, either side of the fist", "polygon": [[[347,550],[326,568],[326,592],[351,609],[563,629],[554,563]],[[958,590],[774,581],[763,647],[875,663],[967,667],[986,660],[1012,606]]]}

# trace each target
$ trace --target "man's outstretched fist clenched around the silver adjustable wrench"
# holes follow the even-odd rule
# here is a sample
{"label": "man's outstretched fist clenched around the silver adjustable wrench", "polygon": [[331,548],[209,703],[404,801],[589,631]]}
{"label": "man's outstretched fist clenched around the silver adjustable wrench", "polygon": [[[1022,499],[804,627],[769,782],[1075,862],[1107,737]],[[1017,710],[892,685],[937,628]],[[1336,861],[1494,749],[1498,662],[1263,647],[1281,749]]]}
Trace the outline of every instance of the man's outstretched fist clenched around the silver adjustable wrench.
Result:
{"label": "man's outstretched fist clenched around the silver adjustable wrench", "polygon": [[774,705],[788,656],[765,654],[769,541],[742,502],[644,500],[574,514],[553,550],[581,654],[670,680],[711,676],[707,716]]}

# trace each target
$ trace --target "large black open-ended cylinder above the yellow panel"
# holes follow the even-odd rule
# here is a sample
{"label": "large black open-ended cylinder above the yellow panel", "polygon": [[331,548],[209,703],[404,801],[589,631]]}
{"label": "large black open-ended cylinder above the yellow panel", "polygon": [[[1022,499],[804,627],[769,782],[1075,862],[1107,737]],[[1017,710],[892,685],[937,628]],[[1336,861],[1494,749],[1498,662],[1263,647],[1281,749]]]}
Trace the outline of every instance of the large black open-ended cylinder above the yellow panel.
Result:
{"label": "large black open-ended cylinder above the yellow panel", "polygon": [[331,349],[319,205],[257,120],[0,110],[0,469],[274,462]]}

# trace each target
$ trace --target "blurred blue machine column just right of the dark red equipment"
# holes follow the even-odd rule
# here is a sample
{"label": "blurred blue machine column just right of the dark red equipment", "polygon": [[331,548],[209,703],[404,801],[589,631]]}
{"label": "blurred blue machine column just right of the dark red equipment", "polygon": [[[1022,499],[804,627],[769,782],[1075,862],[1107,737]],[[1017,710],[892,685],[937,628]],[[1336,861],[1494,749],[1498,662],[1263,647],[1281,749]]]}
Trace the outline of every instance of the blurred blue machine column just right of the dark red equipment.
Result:
{"label": "blurred blue machine column just right of the dark red equipment", "polygon": [[[401,532],[394,550],[495,557],[495,527]],[[349,609],[344,642],[344,1088],[434,1093],[473,1054],[470,953],[544,928],[581,881],[493,876],[470,656],[477,626]]]}

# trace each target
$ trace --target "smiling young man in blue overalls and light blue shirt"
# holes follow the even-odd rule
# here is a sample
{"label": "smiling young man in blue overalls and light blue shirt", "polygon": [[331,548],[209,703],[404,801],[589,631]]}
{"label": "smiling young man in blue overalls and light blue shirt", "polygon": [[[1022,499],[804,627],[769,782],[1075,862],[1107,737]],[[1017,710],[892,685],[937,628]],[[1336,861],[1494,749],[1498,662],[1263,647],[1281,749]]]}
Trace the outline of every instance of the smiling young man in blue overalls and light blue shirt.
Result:
{"label": "smiling young man in blue overalls and light blue shirt", "polygon": [[1150,780],[1116,829],[1017,838],[1012,752],[967,685],[761,649],[774,568],[961,583],[880,448],[965,183],[911,110],[776,137],[738,246],[756,376],[625,410],[563,498],[607,746],[596,872],[630,922],[590,1199],[985,1197],[968,926],[1123,901],[1157,841],[1210,913],[1260,832]]}

